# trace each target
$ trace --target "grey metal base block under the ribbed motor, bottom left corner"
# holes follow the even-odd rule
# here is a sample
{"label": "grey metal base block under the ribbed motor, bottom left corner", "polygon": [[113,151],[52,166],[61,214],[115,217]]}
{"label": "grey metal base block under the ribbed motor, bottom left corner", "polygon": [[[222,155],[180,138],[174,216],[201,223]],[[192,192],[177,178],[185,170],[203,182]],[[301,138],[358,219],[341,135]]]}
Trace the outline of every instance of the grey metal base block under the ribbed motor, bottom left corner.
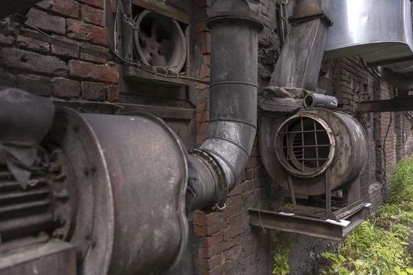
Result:
{"label": "grey metal base block under the ribbed motor, bottom left corner", "polygon": [[3,254],[0,275],[48,274],[76,275],[76,248],[54,239],[47,243],[29,245],[19,253]]}

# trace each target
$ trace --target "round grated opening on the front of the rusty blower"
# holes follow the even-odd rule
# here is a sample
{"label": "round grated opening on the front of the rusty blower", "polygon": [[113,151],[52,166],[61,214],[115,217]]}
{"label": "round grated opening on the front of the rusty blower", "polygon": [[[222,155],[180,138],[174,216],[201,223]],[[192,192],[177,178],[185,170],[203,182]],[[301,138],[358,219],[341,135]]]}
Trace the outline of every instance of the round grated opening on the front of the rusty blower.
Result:
{"label": "round grated opening on the front of the rusty blower", "polygon": [[320,118],[294,115],[282,124],[275,137],[279,162],[297,177],[315,177],[332,162],[335,139]]}

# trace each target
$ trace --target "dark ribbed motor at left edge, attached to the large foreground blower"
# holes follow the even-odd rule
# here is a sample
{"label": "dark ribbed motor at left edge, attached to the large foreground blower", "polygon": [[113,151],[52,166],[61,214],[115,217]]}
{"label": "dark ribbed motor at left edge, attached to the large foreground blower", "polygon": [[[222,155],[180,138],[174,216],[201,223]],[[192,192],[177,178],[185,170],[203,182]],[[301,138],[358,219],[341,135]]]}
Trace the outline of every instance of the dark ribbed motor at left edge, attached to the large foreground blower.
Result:
{"label": "dark ribbed motor at left edge, attached to the large foreground blower", "polygon": [[[52,150],[50,163],[32,172],[27,188],[22,188],[5,165],[0,166],[0,234],[1,241],[54,230],[54,236],[66,238],[74,228],[76,196],[73,182],[68,182],[68,168]],[[70,180],[69,180],[70,181]],[[59,228],[59,229],[58,229]]]}

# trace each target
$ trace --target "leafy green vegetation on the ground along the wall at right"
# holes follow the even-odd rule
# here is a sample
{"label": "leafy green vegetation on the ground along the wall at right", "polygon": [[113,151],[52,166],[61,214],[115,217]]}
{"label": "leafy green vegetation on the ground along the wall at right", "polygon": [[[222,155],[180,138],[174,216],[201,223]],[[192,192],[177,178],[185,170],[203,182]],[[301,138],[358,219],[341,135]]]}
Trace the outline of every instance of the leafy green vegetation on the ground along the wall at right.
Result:
{"label": "leafy green vegetation on the ground along the wall at right", "polygon": [[390,176],[392,192],[385,204],[346,236],[335,254],[322,252],[328,266],[320,274],[413,274],[413,158],[399,162]]}

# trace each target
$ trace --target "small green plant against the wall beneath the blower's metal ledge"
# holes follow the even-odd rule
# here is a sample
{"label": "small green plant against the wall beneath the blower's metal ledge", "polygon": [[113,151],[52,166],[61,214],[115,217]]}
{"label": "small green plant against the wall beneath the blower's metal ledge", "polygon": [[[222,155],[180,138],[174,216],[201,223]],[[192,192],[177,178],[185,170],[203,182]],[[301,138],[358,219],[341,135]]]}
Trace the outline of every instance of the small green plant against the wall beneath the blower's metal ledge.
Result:
{"label": "small green plant against the wall beneath the blower's metal ledge", "polygon": [[274,270],[273,274],[286,275],[290,272],[290,265],[288,264],[288,254],[293,248],[294,240],[286,243],[286,234],[280,233],[280,237],[273,239],[277,243],[277,251],[274,254]]}

